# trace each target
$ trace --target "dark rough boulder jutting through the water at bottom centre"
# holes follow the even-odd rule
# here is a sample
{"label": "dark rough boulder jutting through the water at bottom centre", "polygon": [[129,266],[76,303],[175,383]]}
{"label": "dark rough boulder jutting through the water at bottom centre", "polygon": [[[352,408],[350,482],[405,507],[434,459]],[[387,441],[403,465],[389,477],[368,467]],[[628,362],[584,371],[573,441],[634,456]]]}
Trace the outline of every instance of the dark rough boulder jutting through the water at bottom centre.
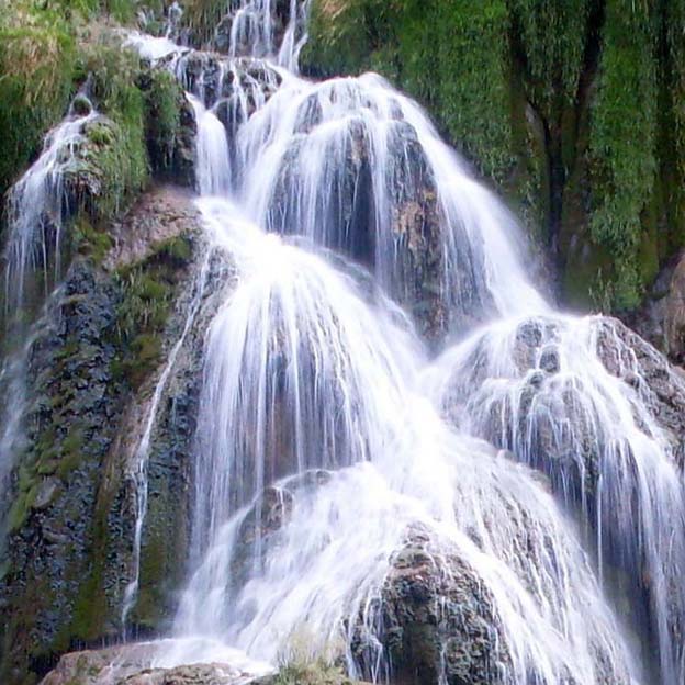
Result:
{"label": "dark rough boulder jutting through the water at bottom centre", "polygon": [[[378,639],[397,685],[497,685],[508,656],[494,603],[458,557],[431,550],[416,529],[393,557],[381,593]],[[378,647],[358,627],[352,651],[371,673]]]}

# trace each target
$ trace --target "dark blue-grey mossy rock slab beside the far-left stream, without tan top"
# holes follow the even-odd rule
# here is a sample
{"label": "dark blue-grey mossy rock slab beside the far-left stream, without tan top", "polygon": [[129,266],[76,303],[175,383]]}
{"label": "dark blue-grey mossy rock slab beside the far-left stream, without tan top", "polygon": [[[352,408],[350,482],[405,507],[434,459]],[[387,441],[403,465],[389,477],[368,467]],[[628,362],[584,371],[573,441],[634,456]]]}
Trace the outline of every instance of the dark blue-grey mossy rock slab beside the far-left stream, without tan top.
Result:
{"label": "dark blue-grey mossy rock slab beside the far-left stream, without tan top", "polygon": [[121,401],[110,370],[115,303],[111,283],[76,265],[32,350],[30,446],[15,473],[0,584],[7,683],[41,670],[69,632],[88,630],[80,603],[93,570],[93,510]]}

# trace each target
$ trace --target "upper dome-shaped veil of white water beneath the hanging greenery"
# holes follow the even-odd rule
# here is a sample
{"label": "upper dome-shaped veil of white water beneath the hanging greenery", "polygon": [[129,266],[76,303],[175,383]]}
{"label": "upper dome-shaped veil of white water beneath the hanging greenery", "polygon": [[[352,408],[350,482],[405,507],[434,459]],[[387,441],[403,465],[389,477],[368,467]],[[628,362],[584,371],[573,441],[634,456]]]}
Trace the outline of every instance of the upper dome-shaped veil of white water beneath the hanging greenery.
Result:
{"label": "upper dome-shaped veil of white water beneath the hanging greenery", "polygon": [[438,291],[438,315],[547,311],[516,257],[514,220],[379,76],[289,76],[237,141],[243,203],[270,231],[371,263],[401,302]]}

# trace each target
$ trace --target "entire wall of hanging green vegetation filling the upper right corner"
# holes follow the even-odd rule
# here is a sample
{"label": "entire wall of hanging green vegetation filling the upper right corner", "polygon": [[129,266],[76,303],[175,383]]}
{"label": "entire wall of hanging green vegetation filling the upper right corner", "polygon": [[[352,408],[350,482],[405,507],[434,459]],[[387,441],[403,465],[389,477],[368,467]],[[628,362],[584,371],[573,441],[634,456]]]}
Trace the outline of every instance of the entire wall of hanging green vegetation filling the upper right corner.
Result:
{"label": "entire wall of hanging green vegetation filling the upper right corner", "polygon": [[684,5],[315,0],[303,59],[418,98],[543,227],[566,300],[622,311],[685,243]]}

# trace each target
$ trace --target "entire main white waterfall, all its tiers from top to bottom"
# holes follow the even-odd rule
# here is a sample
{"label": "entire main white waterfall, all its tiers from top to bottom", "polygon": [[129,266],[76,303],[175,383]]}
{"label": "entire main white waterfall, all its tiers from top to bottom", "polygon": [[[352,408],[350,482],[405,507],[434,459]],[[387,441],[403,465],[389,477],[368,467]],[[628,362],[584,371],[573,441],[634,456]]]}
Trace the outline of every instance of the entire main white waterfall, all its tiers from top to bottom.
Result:
{"label": "entire main white waterfall, all its tiers from top to bottom", "polygon": [[[382,678],[393,559],[420,530],[483,597],[486,682],[682,683],[685,494],[635,356],[546,303],[514,220],[415,103],[375,75],[295,76],[306,4],[287,24],[229,4],[228,54],[267,61],[131,38],[192,93],[199,190],[224,196],[201,203],[207,236],[238,270],[205,345],[187,639],[159,662],[304,641]],[[429,363],[395,302],[434,343],[471,335]],[[603,593],[649,616],[633,642],[658,663],[633,663]]]}

